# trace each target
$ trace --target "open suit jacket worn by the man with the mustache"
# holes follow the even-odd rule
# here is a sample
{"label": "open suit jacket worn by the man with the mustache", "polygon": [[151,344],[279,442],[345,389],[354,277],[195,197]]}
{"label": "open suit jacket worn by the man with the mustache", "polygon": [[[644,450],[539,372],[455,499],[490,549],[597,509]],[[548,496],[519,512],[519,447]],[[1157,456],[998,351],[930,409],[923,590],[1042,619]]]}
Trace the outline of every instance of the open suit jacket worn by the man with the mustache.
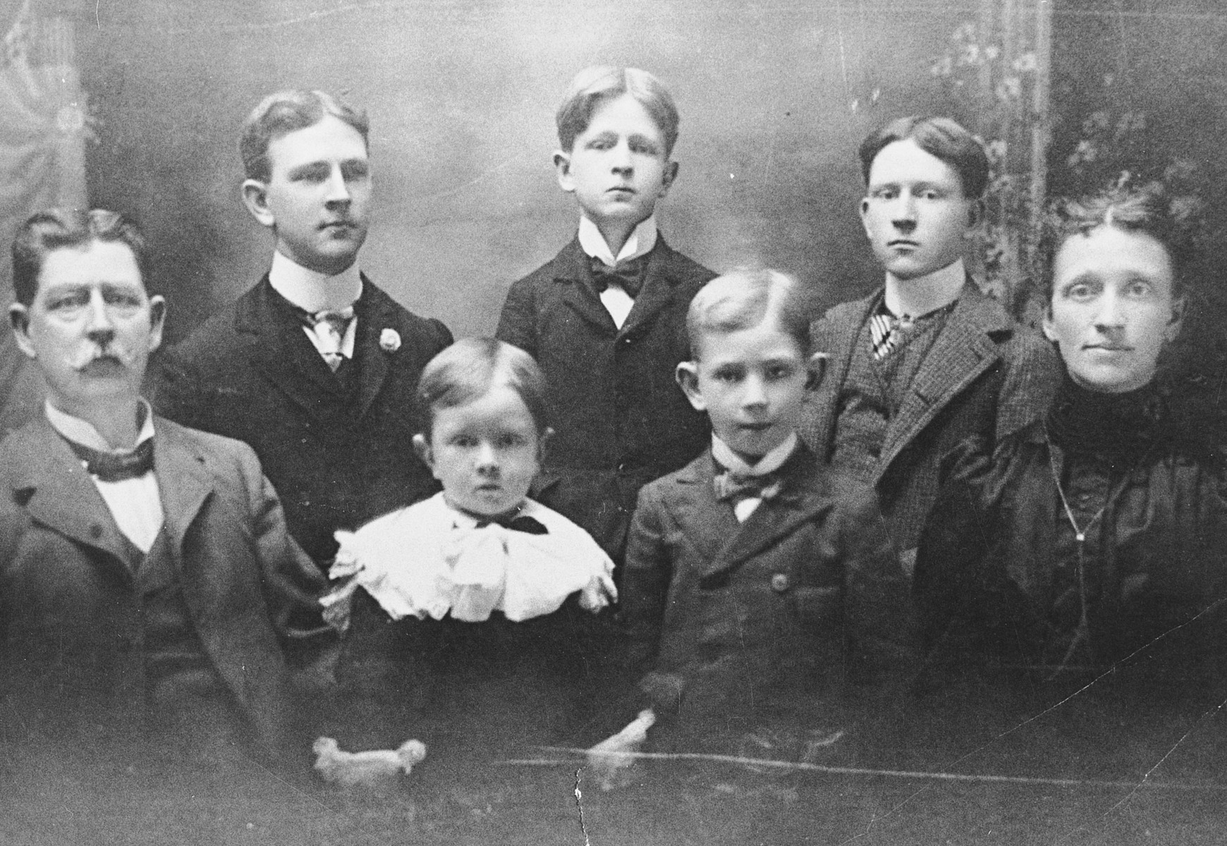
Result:
{"label": "open suit jacket worn by the man with the mustache", "polygon": [[[256,748],[283,750],[290,669],[335,638],[325,587],[245,445],[155,421],[172,559],[201,647]],[[131,721],[139,596],[106,501],[43,414],[0,444],[0,696],[20,733]],[[140,696],[137,689],[136,695]],[[137,700],[139,701],[139,700]],[[66,722],[65,722],[66,721]]]}

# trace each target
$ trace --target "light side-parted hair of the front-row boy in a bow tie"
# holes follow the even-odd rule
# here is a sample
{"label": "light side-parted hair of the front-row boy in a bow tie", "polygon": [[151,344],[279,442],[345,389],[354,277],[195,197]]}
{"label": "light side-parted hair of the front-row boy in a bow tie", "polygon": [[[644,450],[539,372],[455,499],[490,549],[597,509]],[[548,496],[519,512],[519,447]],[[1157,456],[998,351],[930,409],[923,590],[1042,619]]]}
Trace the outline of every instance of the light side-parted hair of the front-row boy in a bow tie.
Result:
{"label": "light side-parted hair of the front-row boy in a bow tie", "polygon": [[796,341],[802,356],[810,354],[810,313],[796,280],[778,270],[735,270],[717,276],[699,288],[686,313],[691,358],[699,360],[708,335],[753,329],[768,318]]}

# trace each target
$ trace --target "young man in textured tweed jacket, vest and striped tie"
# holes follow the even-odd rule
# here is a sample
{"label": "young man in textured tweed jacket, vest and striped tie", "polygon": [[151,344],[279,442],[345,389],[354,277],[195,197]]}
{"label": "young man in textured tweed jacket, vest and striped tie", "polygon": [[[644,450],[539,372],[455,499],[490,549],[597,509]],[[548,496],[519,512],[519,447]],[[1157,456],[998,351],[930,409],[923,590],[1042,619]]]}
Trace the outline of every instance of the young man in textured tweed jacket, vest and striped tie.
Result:
{"label": "young man in textured tweed jacket, vest and striped tie", "polygon": [[861,223],[886,283],[815,324],[829,360],[800,430],[876,486],[910,569],[942,456],[1037,419],[1059,370],[963,266],[989,178],[980,142],[948,118],[901,118],[865,139],[860,163]]}

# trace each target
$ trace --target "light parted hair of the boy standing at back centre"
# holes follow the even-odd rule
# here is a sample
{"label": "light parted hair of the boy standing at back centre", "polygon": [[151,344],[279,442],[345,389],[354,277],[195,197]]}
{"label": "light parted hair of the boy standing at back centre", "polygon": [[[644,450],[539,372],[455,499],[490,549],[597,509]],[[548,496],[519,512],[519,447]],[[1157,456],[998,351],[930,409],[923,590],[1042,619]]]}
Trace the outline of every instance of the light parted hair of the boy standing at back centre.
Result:
{"label": "light parted hair of the boy standing at back centre", "polygon": [[665,158],[669,158],[677,143],[677,125],[681,123],[669,90],[645,70],[612,65],[585,67],[571,81],[555,118],[562,148],[569,153],[575,139],[593,123],[596,109],[622,94],[631,94],[652,115],[665,136]]}

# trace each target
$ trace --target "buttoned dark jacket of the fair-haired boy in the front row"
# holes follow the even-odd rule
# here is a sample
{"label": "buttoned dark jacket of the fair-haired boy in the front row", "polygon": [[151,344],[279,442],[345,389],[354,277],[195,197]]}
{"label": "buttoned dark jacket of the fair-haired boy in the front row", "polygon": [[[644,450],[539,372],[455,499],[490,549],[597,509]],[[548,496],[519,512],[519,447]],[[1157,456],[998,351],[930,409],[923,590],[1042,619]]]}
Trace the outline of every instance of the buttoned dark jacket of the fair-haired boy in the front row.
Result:
{"label": "buttoned dark jacket of the fair-haired boy in the front row", "polygon": [[645,486],[631,526],[622,614],[653,704],[697,726],[804,717],[839,703],[845,666],[902,678],[907,580],[872,489],[801,448],[739,524],[713,472],[708,451]]}

